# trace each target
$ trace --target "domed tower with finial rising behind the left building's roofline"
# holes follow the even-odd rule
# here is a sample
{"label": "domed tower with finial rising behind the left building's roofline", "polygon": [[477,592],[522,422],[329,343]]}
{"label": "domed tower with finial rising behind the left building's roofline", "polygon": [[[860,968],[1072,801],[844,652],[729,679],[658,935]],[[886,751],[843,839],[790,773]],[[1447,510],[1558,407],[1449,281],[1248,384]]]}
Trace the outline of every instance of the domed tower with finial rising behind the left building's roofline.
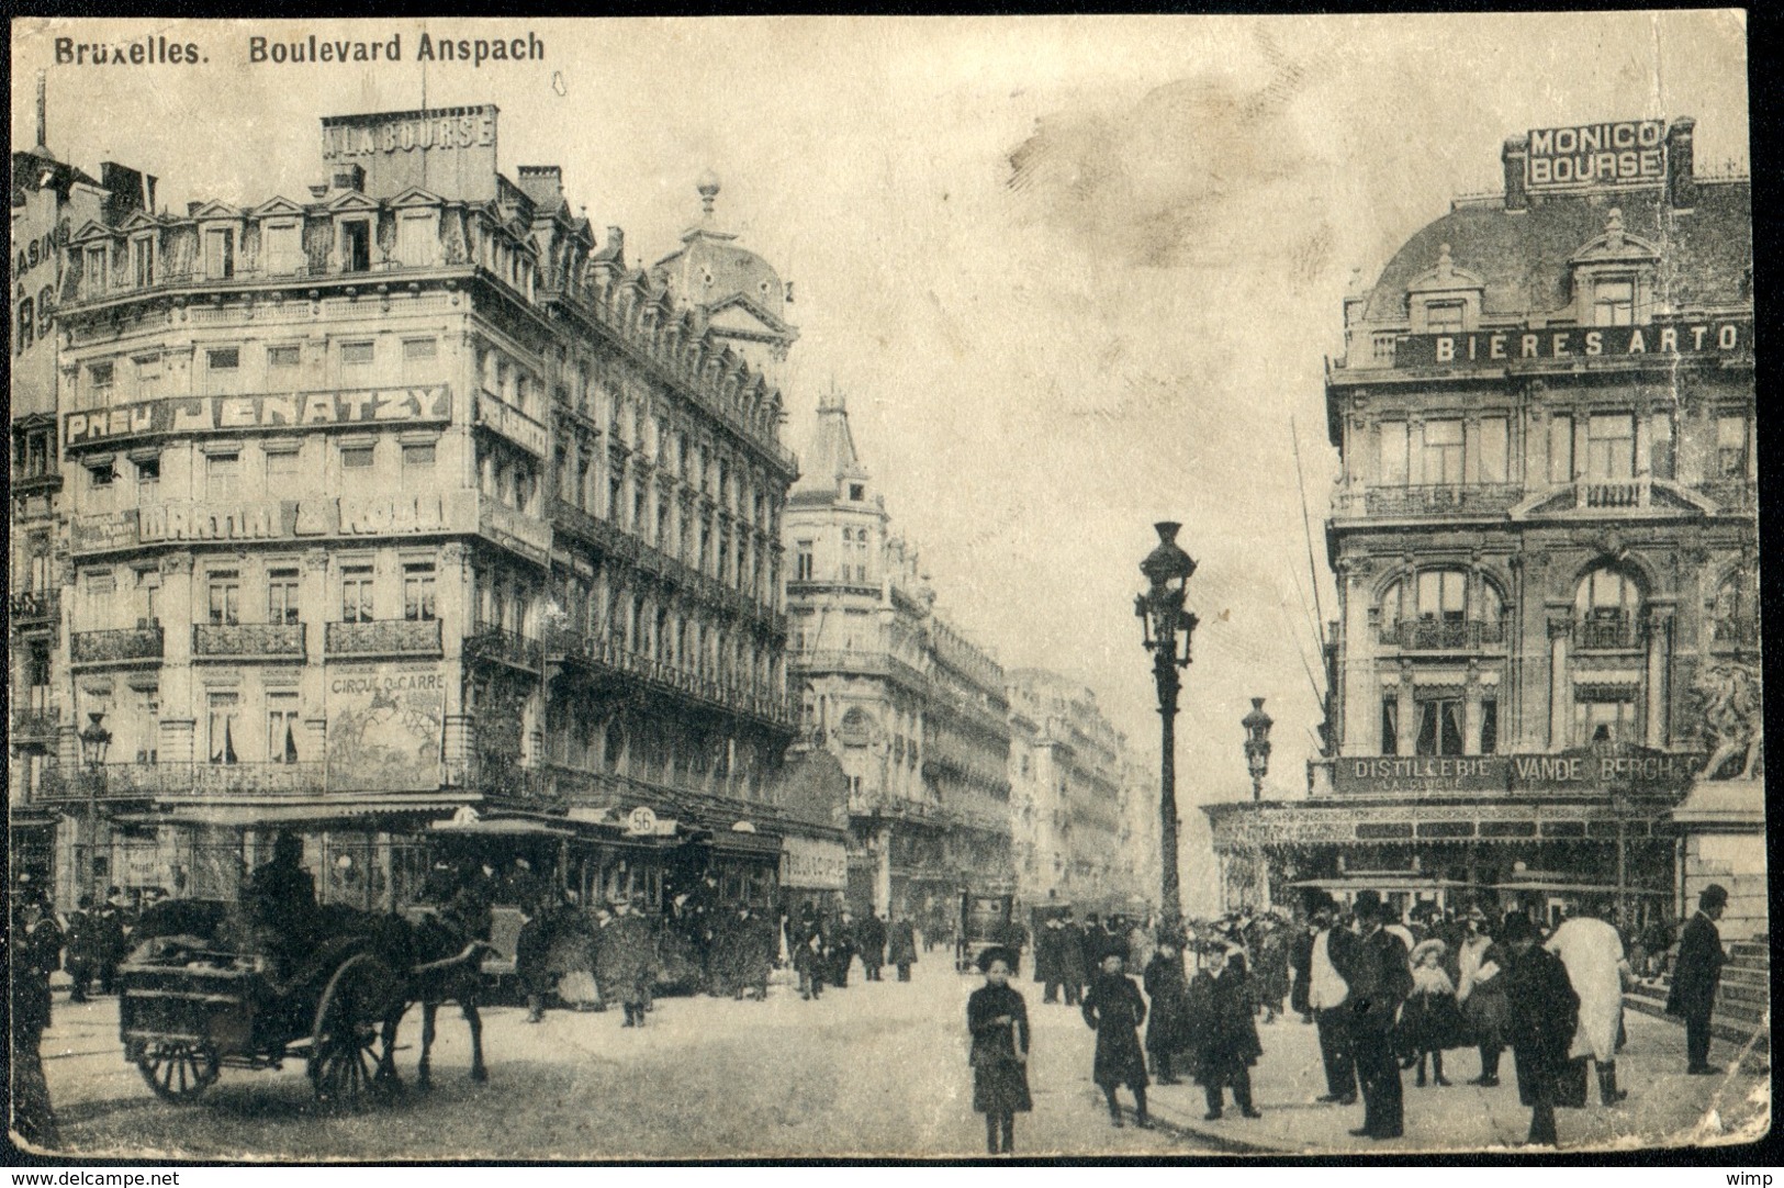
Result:
{"label": "domed tower with finial rising behind the left building's roofline", "polygon": [[789,285],[737,235],[719,230],[714,205],[719,175],[706,169],[696,184],[699,223],[681,234],[681,248],[651,268],[678,301],[699,312],[715,337],[749,360],[774,385],[783,382],[787,351],[799,330],[787,323]]}

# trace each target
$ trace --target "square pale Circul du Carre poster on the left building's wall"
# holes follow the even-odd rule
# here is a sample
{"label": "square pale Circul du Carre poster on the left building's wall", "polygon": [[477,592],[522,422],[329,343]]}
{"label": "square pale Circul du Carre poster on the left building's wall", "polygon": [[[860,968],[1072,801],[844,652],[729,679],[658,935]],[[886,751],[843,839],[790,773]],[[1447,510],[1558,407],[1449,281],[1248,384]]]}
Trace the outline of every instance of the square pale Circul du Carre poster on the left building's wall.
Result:
{"label": "square pale Circul du Carre poster on the left building's wall", "polygon": [[330,665],[326,706],[330,792],[441,787],[446,721],[441,665]]}

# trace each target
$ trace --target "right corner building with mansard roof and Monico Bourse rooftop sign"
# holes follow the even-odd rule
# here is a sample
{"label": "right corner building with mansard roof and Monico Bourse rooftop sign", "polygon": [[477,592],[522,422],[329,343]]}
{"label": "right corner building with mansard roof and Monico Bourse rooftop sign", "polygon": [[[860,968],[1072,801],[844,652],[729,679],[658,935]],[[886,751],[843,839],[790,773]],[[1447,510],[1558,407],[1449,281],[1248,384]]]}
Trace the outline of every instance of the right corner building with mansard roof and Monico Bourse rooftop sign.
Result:
{"label": "right corner building with mansard roof and Monico Bourse rooftop sign", "polygon": [[[1622,139],[1627,169],[1563,152]],[[1210,808],[1217,851],[1677,917],[1675,810],[1759,760],[1750,184],[1695,171],[1691,120],[1502,161],[1345,300],[1331,753],[1304,803]]]}

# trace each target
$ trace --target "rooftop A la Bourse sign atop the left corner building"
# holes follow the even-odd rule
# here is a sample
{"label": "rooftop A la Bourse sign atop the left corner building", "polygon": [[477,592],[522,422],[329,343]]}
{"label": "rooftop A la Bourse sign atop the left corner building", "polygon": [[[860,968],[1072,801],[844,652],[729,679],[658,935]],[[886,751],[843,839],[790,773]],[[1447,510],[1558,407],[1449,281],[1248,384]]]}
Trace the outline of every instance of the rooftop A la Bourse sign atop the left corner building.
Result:
{"label": "rooftop A la Bourse sign atop the left corner building", "polygon": [[496,196],[496,105],[371,116],[323,116],[323,161],[360,166],[366,196],[421,189],[442,198]]}

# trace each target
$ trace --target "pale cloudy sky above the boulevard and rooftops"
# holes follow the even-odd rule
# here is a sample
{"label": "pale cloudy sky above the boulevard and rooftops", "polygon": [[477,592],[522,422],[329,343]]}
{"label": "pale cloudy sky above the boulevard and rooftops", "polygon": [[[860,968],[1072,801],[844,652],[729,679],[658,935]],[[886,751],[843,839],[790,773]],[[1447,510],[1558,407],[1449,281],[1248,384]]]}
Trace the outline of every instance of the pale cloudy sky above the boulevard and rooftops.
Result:
{"label": "pale cloudy sky above the boulevard and rooftops", "polygon": [[[423,32],[532,32],[546,55],[423,68]],[[309,34],[400,34],[405,61],[248,62],[250,37]],[[55,62],[57,37],[145,36],[203,61]],[[1347,287],[1452,196],[1499,193],[1527,128],[1695,116],[1698,169],[1745,166],[1745,36],[1723,11],[21,21],[12,128],[25,146],[46,70],[50,148],[143,168],[182,209],[307,196],[319,116],[494,102],[501,169],[560,164],[633,264],[676,246],[717,171],[719,223],[794,282],[785,441],[806,448],[835,385],[942,614],[1006,667],[1081,680],[1142,756],[1138,562],[1154,521],[1183,523],[1195,910],[1213,863],[1193,806],[1249,796],[1249,699],[1276,719],[1268,796],[1304,794],[1317,751],[1322,376]]]}

